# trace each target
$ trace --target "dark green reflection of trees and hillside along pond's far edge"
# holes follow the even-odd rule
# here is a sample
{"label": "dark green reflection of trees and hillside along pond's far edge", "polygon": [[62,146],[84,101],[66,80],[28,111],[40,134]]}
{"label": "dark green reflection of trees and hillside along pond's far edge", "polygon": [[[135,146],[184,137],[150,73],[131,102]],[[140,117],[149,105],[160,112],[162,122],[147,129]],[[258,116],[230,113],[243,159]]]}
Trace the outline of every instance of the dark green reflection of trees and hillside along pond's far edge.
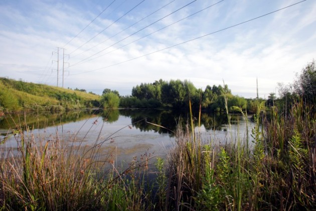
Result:
{"label": "dark green reflection of trees and hillside along pond's far edge", "polygon": [[[190,123],[189,113],[173,110],[89,110],[60,114],[26,113],[1,117],[0,132],[2,136],[5,136],[8,131],[10,132],[11,129],[16,129],[18,126],[22,129],[26,129],[27,126],[29,128],[42,129],[75,123],[93,117],[101,117],[103,122],[111,124],[117,122],[120,116],[129,118],[130,123],[128,124],[132,124],[140,132],[153,131],[159,134],[169,134],[170,136],[173,136],[171,131],[176,130],[177,124],[185,128],[186,124]],[[231,115],[231,122],[238,122],[238,118],[238,115]],[[193,114],[193,120],[195,127],[197,127],[198,112]],[[228,124],[227,115],[222,113],[202,113],[200,124],[206,130],[226,131],[225,125]]]}

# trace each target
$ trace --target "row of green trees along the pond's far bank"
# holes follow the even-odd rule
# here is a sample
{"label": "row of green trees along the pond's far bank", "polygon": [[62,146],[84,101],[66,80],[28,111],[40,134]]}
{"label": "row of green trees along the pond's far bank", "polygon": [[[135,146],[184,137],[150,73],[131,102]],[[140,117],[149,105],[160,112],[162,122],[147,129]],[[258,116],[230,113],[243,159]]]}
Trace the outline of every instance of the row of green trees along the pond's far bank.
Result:
{"label": "row of green trees along the pond's far bank", "polygon": [[241,96],[233,95],[228,85],[208,85],[205,90],[196,88],[189,80],[156,80],[152,83],[141,83],[132,88],[131,95],[120,96],[118,91],[104,89],[101,103],[104,108],[168,108],[188,109],[189,101],[193,109],[211,111],[225,110],[225,97],[228,107],[233,106],[246,109],[247,100]]}

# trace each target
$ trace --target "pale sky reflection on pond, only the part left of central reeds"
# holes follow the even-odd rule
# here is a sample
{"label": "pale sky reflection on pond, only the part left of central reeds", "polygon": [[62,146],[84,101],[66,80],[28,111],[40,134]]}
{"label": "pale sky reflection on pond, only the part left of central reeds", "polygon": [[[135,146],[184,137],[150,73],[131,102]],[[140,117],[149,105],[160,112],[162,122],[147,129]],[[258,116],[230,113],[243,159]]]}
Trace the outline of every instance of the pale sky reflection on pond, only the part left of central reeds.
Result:
{"label": "pale sky reflection on pond, only the part left of central reeds", "polygon": [[[148,155],[154,153],[156,156],[164,157],[168,149],[174,145],[174,138],[168,134],[159,134],[154,131],[141,132],[131,125],[129,117],[123,116],[119,116],[118,120],[113,123],[103,122],[101,117],[94,117],[45,129],[36,129],[33,130],[33,135],[35,140],[68,141],[67,145],[69,147],[73,145],[74,149],[78,149],[79,145],[82,148],[91,148],[98,140],[97,143],[102,143],[99,153],[102,154],[102,151],[104,154],[114,153],[115,159],[119,163],[129,163],[134,156],[140,157],[144,153]],[[10,139],[0,145],[0,149],[6,147],[17,148],[15,136],[11,135]]]}

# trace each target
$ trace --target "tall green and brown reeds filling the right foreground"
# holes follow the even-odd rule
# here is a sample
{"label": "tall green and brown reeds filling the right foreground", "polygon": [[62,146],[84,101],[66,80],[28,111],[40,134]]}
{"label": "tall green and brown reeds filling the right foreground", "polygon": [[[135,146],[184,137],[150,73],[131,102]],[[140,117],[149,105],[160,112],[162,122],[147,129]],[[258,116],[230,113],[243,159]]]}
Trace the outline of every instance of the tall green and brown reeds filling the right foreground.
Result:
{"label": "tall green and brown reeds filling the right foreground", "polygon": [[[239,111],[248,119],[245,112]],[[203,140],[192,123],[191,128],[178,128],[168,164],[169,207],[316,208],[316,121],[312,109],[300,101],[287,115],[270,108],[268,118],[263,102],[258,102],[256,111],[252,144],[248,143],[248,133],[245,140],[228,134],[230,143],[218,145],[210,144],[214,140]]]}

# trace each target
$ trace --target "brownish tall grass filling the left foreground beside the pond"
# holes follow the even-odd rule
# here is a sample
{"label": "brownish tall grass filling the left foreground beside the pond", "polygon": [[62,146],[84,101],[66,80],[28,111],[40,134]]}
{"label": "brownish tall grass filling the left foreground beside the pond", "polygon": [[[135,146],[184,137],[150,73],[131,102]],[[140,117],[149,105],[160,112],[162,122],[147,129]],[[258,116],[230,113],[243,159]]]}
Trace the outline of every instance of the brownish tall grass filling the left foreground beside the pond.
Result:
{"label": "brownish tall grass filling the left foreground beside the pond", "polygon": [[0,209],[141,210],[151,206],[145,174],[152,156],[144,154],[122,170],[110,154],[100,151],[109,139],[97,140],[89,149],[70,148],[68,142],[75,138],[62,140],[57,133],[50,140],[36,140],[33,129],[15,127],[18,147],[3,151],[0,157]]}

